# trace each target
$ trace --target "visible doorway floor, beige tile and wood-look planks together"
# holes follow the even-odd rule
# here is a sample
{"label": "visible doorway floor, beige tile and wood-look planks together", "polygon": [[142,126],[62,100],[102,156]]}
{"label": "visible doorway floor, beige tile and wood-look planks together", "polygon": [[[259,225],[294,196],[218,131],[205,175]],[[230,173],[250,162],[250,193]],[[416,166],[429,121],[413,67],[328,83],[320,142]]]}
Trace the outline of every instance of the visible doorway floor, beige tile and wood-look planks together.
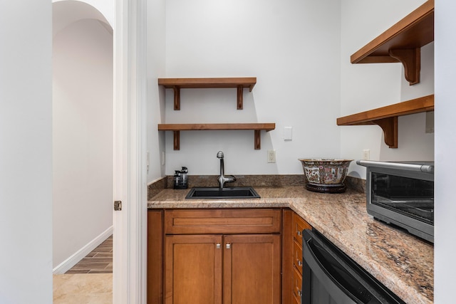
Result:
{"label": "visible doorway floor, beige tile and wood-look planks together", "polygon": [[113,236],[65,274],[53,276],[53,304],[113,303]]}

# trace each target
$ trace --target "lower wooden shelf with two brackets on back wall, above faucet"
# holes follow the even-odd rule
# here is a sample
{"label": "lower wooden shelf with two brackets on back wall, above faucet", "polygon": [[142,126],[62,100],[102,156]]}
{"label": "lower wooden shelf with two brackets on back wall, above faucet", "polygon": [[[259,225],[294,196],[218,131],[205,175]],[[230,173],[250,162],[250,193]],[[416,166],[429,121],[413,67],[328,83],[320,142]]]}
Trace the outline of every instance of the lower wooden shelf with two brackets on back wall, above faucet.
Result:
{"label": "lower wooden shelf with two brackets on back wall, above faucet", "polygon": [[276,128],[275,123],[212,123],[212,124],[160,124],[159,131],[174,132],[174,150],[180,150],[180,131],[198,130],[254,130],[255,150],[261,149],[260,131],[269,132]]}

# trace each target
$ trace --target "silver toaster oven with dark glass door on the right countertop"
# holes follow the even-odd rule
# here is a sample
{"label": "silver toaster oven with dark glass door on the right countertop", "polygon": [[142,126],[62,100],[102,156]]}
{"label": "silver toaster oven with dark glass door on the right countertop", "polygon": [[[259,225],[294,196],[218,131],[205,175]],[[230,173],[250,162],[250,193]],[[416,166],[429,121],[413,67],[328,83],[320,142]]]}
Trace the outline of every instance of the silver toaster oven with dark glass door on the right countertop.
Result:
{"label": "silver toaster oven with dark glass door on the right countertop", "polygon": [[356,163],[367,168],[368,214],[434,243],[434,162]]}

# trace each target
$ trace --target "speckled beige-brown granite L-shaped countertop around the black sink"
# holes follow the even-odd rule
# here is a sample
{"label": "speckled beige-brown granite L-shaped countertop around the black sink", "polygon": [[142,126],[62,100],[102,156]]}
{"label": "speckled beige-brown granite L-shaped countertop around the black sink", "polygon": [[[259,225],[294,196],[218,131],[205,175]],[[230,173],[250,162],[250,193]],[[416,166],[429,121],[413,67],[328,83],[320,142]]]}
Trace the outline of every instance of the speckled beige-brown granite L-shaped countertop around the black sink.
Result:
{"label": "speckled beige-brown granite L-shaped countertop around the black sink", "polygon": [[260,199],[185,199],[190,189],[163,189],[147,207],[289,207],[406,303],[433,303],[434,246],[374,220],[367,214],[365,194],[321,194],[302,186],[254,189]]}

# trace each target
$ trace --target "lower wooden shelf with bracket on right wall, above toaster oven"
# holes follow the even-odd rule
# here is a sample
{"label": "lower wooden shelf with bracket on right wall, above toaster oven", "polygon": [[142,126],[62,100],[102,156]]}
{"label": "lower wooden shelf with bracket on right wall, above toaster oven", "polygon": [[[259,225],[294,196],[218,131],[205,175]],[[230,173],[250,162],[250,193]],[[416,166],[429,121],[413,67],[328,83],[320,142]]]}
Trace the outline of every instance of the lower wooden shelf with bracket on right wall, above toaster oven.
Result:
{"label": "lower wooden shelf with bracket on right wall, above toaster oven", "polygon": [[339,117],[337,125],[379,125],[385,136],[385,144],[398,147],[398,116],[434,110],[434,95],[427,95],[403,103]]}

